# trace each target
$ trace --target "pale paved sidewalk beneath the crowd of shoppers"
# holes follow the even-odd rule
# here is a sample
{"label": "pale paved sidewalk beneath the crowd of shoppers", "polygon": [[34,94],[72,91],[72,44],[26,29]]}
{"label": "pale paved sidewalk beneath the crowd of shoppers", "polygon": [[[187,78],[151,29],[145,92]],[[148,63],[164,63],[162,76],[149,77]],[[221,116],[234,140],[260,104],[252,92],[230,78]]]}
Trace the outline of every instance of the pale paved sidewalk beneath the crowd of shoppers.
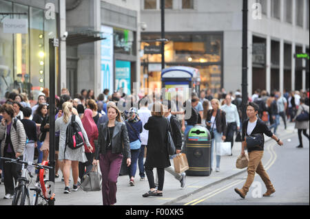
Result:
{"label": "pale paved sidewalk beneath the crowd of shoppers", "polygon": [[[288,123],[287,129],[284,129],[282,121],[278,128],[278,137],[280,139],[286,139],[291,136],[297,135],[297,130],[294,129],[293,123]],[[274,141],[269,137],[265,136],[265,153],[262,159],[264,165],[270,159],[269,146],[274,144]],[[116,205],[169,205],[177,200],[186,198],[191,194],[199,192],[211,185],[216,185],[227,178],[238,176],[242,173],[247,172],[247,168],[242,170],[236,168],[236,159],[241,151],[241,142],[235,142],[234,148],[232,150],[232,156],[224,156],[221,158],[221,168],[220,172],[211,172],[210,176],[187,176],[186,184],[184,188],[180,187],[180,182],[176,181],[174,176],[165,172],[165,185],[163,197],[149,197],[143,198],[142,194],[148,189],[147,179],[145,181],[138,181],[138,176],[136,176],[137,181],[134,187],[130,187],[128,181],[129,177],[119,176],[117,182],[117,203]],[[173,166],[173,160],[171,159],[171,164]],[[100,172],[100,170],[99,170]],[[71,184],[72,184],[71,176]],[[102,205],[102,194],[101,191],[98,192],[84,192],[81,188],[77,192],[71,192],[68,194],[63,194],[63,182],[61,177],[56,178],[56,202],[55,205]],[[4,194],[4,185],[0,185],[0,194]],[[2,199],[0,198],[0,205],[11,205],[12,199]]]}

